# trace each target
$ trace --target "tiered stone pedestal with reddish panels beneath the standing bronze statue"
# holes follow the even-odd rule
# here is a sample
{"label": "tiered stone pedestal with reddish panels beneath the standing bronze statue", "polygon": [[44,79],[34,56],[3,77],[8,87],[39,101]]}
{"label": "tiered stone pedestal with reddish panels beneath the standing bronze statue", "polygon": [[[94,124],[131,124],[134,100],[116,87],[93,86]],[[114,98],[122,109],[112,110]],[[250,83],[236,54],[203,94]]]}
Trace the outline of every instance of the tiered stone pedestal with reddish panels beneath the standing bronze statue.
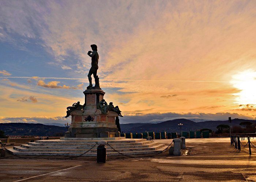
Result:
{"label": "tiered stone pedestal with reddish panels beneath the standing bronze statue", "polygon": [[71,137],[118,137],[118,128],[115,124],[118,114],[113,111],[103,114],[101,110],[97,109],[97,104],[103,99],[105,92],[101,89],[87,89],[83,93],[85,96],[84,109],[70,113],[72,119],[68,131],[71,132]]}

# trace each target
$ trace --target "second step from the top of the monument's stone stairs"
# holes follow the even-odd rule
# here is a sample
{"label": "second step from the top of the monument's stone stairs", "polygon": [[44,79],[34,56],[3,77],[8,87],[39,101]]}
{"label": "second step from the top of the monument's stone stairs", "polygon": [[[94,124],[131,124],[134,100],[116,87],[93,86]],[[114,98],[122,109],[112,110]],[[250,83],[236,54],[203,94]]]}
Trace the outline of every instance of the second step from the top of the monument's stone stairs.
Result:
{"label": "second step from the top of the monument's stone stairs", "polygon": [[[88,143],[87,141],[84,141],[84,143],[63,143],[63,142],[59,142],[59,141],[56,141],[55,143],[51,142],[27,142],[28,145],[33,145],[33,146],[94,146],[95,145],[95,141],[93,143]],[[111,145],[111,146],[122,146],[122,145],[125,145],[125,146],[128,146],[128,145],[146,145],[146,144],[149,144],[149,143],[153,143],[153,141],[141,141],[141,142],[128,142],[128,143],[113,143],[113,142],[109,142],[108,143]]]}

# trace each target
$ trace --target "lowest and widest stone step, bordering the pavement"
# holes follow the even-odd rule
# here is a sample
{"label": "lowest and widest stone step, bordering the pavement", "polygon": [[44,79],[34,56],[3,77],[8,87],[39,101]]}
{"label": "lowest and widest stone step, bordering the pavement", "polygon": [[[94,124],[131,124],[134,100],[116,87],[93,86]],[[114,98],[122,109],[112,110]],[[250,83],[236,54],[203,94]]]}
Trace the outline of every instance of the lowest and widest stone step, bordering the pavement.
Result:
{"label": "lowest and widest stone step, bordering the pavement", "polygon": [[[159,148],[157,150],[147,150],[147,151],[126,151],[126,152],[122,152],[122,154],[125,154],[125,155],[136,155],[136,154],[156,154],[156,153],[162,153],[162,150],[165,149],[165,146],[163,146],[162,148]],[[83,153],[68,153],[68,152],[20,152],[20,151],[17,151],[15,149],[8,149],[10,150],[12,153],[14,153],[15,155],[53,155],[53,156],[56,156],[56,155],[61,155],[61,156],[78,156],[78,155],[81,155]],[[121,155],[117,152],[110,152],[110,153],[107,153],[107,156],[113,156],[113,155]],[[86,153],[82,156],[97,156],[97,153]]]}

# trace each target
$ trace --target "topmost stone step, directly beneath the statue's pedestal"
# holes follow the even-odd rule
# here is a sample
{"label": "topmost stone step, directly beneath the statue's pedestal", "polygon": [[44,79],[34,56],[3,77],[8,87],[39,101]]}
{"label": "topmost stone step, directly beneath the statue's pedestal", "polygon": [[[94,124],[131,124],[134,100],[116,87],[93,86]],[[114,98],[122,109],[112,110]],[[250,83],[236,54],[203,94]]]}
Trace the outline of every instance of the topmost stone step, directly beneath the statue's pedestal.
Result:
{"label": "topmost stone step, directly beneath the statue's pedestal", "polygon": [[[120,139],[120,140],[105,140],[108,143],[138,143],[145,142],[147,139]],[[95,143],[96,141],[87,140],[37,140],[35,143]]]}

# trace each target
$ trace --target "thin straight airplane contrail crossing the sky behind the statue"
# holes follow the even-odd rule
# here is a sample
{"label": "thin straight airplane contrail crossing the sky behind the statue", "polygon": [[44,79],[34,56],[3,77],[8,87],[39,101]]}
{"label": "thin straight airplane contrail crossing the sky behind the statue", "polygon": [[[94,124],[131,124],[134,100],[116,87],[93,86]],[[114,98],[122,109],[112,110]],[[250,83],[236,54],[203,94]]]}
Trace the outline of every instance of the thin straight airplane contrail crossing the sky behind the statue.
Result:
{"label": "thin straight airplane contrail crossing the sky behind the statue", "polygon": [[[57,80],[88,80],[88,78],[62,78],[62,77],[37,77],[37,76],[0,76],[0,78],[26,78],[26,79],[57,79]],[[159,81],[159,82],[228,82],[216,80],[147,80],[147,79],[101,79],[103,81]]]}

